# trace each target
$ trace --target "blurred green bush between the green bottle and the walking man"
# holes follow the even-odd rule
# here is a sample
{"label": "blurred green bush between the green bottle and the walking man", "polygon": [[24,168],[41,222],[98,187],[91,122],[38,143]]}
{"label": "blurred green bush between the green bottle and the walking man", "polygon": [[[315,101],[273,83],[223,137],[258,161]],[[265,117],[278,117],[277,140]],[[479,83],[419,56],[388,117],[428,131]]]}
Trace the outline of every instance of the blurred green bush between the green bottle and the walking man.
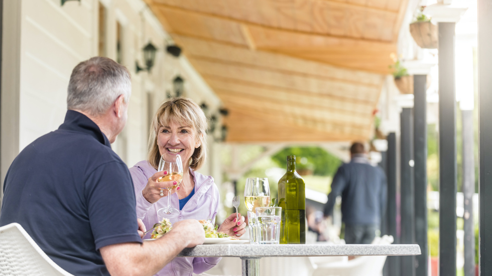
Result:
{"label": "blurred green bush between the green bottle and the walking man", "polygon": [[285,168],[287,166],[286,157],[288,155],[296,156],[297,169],[312,169],[314,175],[333,177],[341,164],[340,159],[329,154],[320,147],[288,147],[272,156],[272,160],[275,161],[279,167]]}

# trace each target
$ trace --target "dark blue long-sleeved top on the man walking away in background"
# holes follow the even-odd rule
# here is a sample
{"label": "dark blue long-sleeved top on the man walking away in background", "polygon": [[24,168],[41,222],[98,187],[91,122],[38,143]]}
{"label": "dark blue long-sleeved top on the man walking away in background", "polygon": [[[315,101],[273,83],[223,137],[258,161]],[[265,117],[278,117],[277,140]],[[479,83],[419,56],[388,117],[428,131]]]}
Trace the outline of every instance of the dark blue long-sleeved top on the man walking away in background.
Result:
{"label": "dark blue long-sleeved top on the man walking away in background", "polygon": [[350,163],[338,168],[324,214],[333,211],[335,199],[342,196],[342,221],[345,224],[376,224],[379,226],[386,209],[386,175],[380,167],[374,167],[365,157],[354,155]]}

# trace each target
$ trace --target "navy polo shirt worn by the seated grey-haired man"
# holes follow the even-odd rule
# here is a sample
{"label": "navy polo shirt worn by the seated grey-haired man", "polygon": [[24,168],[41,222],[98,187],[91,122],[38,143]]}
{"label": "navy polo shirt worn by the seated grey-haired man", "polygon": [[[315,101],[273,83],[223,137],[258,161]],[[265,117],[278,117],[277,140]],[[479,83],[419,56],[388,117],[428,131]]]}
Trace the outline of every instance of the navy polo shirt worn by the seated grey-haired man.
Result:
{"label": "navy polo shirt worn by the seated grey-haired man", "polygon": [[127,166],[99,127],[69,110],[65,122],[28,145],[4,182],[0,226],[18,222],[63,269],[109,275],[99,248],[142,242]]}

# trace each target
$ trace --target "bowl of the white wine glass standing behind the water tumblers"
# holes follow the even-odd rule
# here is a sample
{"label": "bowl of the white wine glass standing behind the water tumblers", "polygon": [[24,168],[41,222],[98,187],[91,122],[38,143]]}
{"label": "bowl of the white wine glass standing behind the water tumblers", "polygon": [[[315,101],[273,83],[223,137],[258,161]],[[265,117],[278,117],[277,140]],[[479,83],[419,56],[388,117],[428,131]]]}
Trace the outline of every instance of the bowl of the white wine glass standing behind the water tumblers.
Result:
{"label": "bowl of the white wine glass standing behind the water tumblers", "polygon": [[244,203],[246,208],[253,212],[255,212],[256,207],[266,207],[270,204],[268,178],[253,177],[246,179]]}

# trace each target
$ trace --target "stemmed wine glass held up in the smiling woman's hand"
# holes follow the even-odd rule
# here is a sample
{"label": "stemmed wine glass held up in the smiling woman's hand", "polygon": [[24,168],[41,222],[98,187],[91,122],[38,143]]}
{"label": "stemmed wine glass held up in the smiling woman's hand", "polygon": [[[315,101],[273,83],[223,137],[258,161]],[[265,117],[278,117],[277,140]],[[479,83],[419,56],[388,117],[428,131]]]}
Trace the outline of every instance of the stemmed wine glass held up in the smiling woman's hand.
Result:
{"label": "stemmed wine glass held up in the smiling woman's hand", "polygon": [[[181,156],[176,153],[166,152],[161,156],[159,161],[159,167],[157,171],[167,171],[167,174],[159,178],[158,182],[176,181],[176,185],[168,187],[167,195],[167,207],[161,208],[157,211],[159,217],[174,218],[179,215],[179,210],[171,207],[171,190],[178,187],[183,180],[183,162],[181,162]],[[162,193],[162,190],[161,190]]]}

